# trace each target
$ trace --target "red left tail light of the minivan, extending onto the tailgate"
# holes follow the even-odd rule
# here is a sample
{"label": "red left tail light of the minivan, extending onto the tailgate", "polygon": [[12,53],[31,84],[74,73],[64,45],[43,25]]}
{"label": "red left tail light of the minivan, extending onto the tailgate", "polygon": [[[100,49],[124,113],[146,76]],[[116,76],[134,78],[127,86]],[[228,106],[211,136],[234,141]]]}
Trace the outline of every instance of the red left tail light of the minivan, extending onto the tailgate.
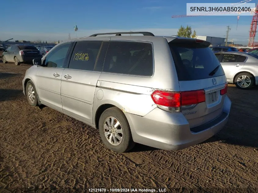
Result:
{"label": "red left tail light of the minivan, extending onto the tailgate", "polygon": [[156,90],[151,94],[151,98],[162,110],[180,112],[181,106],[205,102],[205,91],[203,89],[183,92]]}

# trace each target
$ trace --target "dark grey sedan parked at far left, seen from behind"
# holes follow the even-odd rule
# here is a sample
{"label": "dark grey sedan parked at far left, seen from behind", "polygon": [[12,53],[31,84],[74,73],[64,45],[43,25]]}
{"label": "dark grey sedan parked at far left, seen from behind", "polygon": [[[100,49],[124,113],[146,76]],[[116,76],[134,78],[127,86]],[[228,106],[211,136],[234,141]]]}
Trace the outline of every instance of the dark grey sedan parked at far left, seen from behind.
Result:
{"label": "dark grey sedan parked at far left, seen from behind", "polygon": [[2,54],[3,63],[14,62],[32,63],[32,60],[39,57],[39,50],[31,45],[11,45]]}

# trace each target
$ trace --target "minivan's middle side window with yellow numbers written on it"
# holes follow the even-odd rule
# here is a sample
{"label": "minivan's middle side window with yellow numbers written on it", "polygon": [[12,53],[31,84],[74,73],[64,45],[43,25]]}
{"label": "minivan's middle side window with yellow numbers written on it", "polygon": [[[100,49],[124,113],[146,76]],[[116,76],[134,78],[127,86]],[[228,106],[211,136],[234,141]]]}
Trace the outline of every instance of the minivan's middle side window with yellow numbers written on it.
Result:
{"label": "minivan's middle side window with yellow numbers written on it", "polygon": [[94,70],[103,41],[78,41],[71,55],[69,69]]}

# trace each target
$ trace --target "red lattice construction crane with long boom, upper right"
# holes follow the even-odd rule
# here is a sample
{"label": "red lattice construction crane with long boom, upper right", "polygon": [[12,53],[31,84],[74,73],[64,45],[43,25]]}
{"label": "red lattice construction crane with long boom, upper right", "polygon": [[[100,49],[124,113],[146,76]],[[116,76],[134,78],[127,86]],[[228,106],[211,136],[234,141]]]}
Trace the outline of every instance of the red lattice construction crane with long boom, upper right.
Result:
{"label": "red lattice construction crane with long boom, upper right", "polygon": [[[253,20],[250,27],[250,34],[249,34],[249,47],[258,47],[258,42],[254,41],[255,35],[256,35],[256,29],[257,29],[257,22],[258,22],[258,4],[256,5],[256,8],[252,9],[254,11]],[[234,12],[234,13],[246,13],[246,12]],[[219,14],[228,14],[228,13],[211,13],[209,15],[219,15]],[[172,18],[178,18],[178,17],[194,17],[194,16],[207,16],[207,15],[173,15]]]}

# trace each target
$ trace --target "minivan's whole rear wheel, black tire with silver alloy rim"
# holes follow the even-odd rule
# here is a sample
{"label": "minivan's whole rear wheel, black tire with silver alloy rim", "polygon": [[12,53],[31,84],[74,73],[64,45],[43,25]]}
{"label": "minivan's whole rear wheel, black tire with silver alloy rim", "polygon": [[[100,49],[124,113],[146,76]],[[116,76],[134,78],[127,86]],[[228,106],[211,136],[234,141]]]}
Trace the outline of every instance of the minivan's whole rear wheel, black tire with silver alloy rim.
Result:
{"label": "minivan's whole rear wheel, black tire with silver alloy rim", "polygon": [[115,152],[127,152],[135,145],[129,123],[117,107],[106,109],[101,114],[99,132],[104,145]]}

